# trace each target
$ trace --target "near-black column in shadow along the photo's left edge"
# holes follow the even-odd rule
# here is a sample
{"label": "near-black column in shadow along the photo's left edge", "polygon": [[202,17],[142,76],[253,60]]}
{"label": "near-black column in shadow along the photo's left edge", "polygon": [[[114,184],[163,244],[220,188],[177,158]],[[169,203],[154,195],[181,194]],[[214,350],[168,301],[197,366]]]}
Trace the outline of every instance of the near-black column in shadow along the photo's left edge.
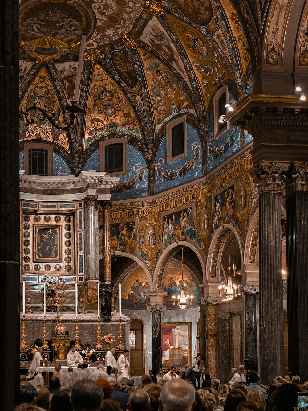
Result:
{"label": "near-black column in shadow along the photo's left edge", "polygon": [[[0,404],[14,409],[19,392],[19,61],[18,2],[0,2],[0,272],[2,378]],[[21,119],[21,121],[23,121]]]}

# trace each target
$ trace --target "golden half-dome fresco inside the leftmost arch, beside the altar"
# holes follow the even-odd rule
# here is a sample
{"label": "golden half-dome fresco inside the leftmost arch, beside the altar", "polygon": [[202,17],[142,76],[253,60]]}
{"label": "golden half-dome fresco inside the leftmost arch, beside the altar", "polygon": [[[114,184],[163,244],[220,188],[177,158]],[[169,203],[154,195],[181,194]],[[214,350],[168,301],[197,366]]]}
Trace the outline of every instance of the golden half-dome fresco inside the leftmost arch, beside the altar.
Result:
{"label": "golden half-dome fresco inside the leftmost arch, beside the altar", "polygon": [[134,268],[121,284],[122,308],[147,309],[149,280],[141,267]]}

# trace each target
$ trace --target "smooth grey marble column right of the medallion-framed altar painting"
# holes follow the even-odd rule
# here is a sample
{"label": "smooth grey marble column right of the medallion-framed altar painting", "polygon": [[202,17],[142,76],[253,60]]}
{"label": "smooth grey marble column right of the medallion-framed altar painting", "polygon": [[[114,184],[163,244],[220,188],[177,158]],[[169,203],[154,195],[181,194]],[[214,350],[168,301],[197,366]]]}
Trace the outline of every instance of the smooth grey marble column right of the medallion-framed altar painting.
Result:
{"label": "smooth grey marble column right of the medallion-framed altar painting", "polygon": [[85,279],[99,279],[97,196],[87,196],[85,207]]}

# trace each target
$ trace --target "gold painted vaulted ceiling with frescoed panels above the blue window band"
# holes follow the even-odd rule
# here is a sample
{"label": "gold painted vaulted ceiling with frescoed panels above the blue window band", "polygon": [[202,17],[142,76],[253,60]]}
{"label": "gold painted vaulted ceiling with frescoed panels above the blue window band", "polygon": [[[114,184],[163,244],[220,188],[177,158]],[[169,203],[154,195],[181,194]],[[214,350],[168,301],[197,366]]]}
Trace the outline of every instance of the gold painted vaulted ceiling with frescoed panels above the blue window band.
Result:
{"label": "gold painted vaulted ceiling with frescoed panels above the blue window band", "polygon": [[78,174],[100,139],[126,135],[154,162],[166,123],[183,113],[202,130],[205,146],[215,91],[228,84],[242,99],[260,64],[256,33],[262,5],[254,3],[21,1],[22,110],[40,102],[60,122],[68,121],[65,107],[73,99],[80,40],[86,34],[78,98],[83,112],[61,132],[32,113],[34,124],[21,124],[21,147],[27,140],[53,142]]}

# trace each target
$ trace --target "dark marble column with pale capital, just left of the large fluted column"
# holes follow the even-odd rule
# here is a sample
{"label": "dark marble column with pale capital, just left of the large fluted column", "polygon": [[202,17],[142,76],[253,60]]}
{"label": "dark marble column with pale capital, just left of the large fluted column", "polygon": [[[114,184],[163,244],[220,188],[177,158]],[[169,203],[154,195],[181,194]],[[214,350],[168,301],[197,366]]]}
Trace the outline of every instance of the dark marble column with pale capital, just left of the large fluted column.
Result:
{"label": "dark marble column with pale capital, just left of the large fluted column", "polygon": [[255,371],[258,368],[257,349],[257,310],[255,297],[259,293],[258,284],[245,284],[239,286],[239,292],[244,293],[245,319],[244,319],[244,355],[249,358]]}

